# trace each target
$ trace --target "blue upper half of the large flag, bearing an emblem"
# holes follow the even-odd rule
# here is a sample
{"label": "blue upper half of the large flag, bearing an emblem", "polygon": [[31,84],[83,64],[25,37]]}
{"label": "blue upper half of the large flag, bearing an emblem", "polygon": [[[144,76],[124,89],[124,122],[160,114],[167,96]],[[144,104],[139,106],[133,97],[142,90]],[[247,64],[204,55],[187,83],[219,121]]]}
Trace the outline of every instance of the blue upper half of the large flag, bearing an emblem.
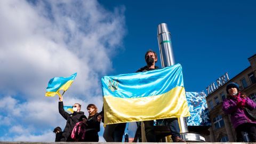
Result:
{"label": "blue upper half of the large flag, bearing an emblem", "polygon": [[103,96],[118,98],[150,97],[184,87],[180,64],[143,73],[104,76],[101,81]]}

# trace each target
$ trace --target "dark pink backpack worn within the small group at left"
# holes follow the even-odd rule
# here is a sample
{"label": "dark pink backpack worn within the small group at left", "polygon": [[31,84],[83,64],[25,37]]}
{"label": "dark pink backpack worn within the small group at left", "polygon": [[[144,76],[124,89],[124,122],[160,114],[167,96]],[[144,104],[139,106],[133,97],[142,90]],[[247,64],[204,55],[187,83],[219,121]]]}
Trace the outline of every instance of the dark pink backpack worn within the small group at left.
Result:
{"label": "dark pink backpack worn within the small group at left", "polygon": [[84,140],[86,132],[86,124],[83,122],[78,122],[74,126],[71,132],[71,138],[75,140]]}

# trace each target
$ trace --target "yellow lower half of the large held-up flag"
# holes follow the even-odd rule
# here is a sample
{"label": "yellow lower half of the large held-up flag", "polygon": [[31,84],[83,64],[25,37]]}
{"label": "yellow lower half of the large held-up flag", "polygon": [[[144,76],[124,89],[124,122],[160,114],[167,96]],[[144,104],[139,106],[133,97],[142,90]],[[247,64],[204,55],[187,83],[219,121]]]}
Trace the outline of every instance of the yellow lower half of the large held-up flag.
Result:
{"label": "yellow lower half of the large held-up flag", "polygon": [[164,94],[142,98],[117,98],[105,95],[104,125],[190,116],[183,86]]}

